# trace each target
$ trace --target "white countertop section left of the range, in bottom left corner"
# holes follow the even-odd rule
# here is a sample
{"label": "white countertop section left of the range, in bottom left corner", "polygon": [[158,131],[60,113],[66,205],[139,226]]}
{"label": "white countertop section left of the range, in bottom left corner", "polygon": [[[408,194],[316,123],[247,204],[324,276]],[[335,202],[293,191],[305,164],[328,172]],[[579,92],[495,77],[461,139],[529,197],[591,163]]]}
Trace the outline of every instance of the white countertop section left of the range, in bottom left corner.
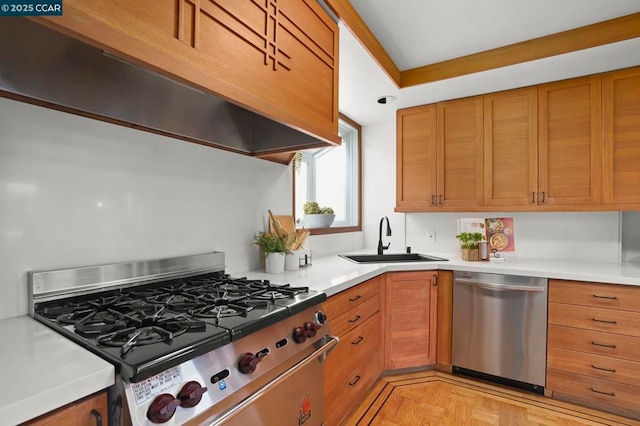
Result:
{"label": "white countertop section left of the range, in bottom left corner", "polygon": [[112,364],[29,316],[0,321],[0,425],[55,410],[115,380]]}

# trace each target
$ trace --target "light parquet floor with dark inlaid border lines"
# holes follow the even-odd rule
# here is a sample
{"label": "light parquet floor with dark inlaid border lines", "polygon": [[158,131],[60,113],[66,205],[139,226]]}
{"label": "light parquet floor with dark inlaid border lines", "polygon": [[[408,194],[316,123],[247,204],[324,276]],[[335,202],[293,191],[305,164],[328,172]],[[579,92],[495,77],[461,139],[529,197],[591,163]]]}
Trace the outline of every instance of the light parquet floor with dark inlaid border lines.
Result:
{"label": "light parquet floor with dark inlaid border lines", "polygon": [[532,393],[425,371],[382,377],[344,425],[639,426],[640,422]]}

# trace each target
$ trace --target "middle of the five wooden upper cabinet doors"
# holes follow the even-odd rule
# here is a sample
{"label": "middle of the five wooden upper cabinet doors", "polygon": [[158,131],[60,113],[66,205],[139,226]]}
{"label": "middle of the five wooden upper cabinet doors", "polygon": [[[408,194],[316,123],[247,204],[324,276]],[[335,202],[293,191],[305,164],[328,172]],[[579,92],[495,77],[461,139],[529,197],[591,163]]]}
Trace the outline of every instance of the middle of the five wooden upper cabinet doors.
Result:
{"label": "middle of the five wooden upper cabinet doors", "polygon": [[536,87],[484,96],[484,205],[535,204],[538,191]]}

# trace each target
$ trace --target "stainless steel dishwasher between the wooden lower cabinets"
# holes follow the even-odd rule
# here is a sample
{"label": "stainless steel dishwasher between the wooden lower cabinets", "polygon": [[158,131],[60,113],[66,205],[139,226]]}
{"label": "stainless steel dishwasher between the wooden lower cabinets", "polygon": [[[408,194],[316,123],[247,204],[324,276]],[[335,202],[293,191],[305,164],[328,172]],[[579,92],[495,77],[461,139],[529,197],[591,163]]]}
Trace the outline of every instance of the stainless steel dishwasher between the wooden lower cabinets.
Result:
{"label": "stainless steel dishwasher between the wooden lower cabinets", "polygon": [[543,393],[546,278],[455,272],[453,372]]}

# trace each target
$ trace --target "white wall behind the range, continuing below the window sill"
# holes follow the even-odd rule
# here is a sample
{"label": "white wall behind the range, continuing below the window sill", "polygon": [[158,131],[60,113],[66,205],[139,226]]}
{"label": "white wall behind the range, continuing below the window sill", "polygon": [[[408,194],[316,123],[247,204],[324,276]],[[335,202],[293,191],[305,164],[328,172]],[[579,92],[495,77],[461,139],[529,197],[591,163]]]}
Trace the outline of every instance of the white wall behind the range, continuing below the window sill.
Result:
{"label": "white wall behind the range, continuing below the window sill", "polygon": [[[27,312],[27,271],[226,253],[261,268],[267,209],[291,213],[289,167],[0,98],[0,319]],[[361,235],[311,238],[314,254]],[[354,237],[355,235],[355,237]]]}

